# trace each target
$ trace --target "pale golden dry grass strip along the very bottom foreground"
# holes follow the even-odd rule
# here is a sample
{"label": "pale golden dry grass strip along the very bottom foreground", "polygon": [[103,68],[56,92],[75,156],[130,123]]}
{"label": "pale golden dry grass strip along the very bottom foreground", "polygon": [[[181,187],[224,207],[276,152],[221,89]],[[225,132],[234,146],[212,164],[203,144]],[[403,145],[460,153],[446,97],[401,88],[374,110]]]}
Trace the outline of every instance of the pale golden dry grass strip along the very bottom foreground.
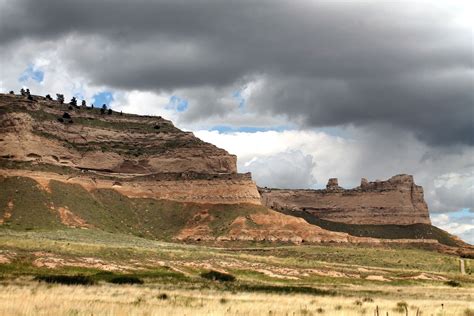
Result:
{"label": "pale golden dry grass strip along the very bottom foreground", "polygon": [[[0,315],[405,315],[397,303],[408,304],[409,315],[417,309],[422,315],[465,315],[474,310],[469,299],[456,299],[456,293],[474,296],[472,289],[410,289],[407,299],[365,299],[358,297],[319,297],[265,293],[230,293],[216,290],[173,290],[161,286],[46,285],[14,282],[0,287]],[[414,293],[432,291],[432,299],[414,299]],[[443,293],[452,292],[449,299]],[[166,293],[167,298],[160,298]],[[403,293],[398,293],[403,296]],[[373,302],[371,301],[373,300]],[[443,304],[443,307],[441,306]]]}

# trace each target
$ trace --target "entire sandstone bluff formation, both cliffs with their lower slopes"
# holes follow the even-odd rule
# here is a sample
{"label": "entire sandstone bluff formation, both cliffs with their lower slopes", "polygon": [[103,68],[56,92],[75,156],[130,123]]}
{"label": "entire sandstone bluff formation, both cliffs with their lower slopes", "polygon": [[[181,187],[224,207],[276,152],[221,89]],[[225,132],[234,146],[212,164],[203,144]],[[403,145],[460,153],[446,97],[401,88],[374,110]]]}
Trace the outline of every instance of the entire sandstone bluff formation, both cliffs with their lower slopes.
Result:
{"label": "entire sandstone bluff formation, both cliffs with their lower slopes", "polygon": [[[408,229],[387,235],[387,223]],[[0,94],[0,229],[65,227],[183,241],[458,244],[430,225],[410,176],[259,192],[235,155],[162,117]]]}

